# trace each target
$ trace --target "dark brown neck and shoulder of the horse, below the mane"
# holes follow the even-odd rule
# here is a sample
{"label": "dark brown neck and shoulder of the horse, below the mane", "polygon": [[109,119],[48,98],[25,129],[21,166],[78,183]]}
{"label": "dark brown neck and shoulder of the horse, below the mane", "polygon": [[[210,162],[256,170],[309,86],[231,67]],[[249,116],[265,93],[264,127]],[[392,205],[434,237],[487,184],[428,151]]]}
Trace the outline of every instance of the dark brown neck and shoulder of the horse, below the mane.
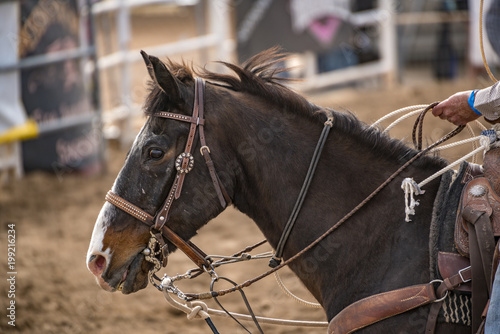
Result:
{"label": "dark brown neck and shoulder of the horse, below the mane", "polygon": [[[237,176],[235,205],[253,218],[276,247],[322,126],[293,119],[283,126],[269,124],[272,122],[247,124],[256,133],[247,133],[239,139],[238,160],[244,163],[240,166],[242,173]],[[340,138],[335,133],[330,136],[286,244],[285,258],[296,254],[333,226],[400,165],[398,161],[377,159],[369,148],[356,148],[352,138]],[[408,172],[411,176],[411,173],[421,173],[411,168]],[[414,274],[411,277],[406,268],[396,274],[401,264],[392,263],[391,258],[409,258],[407,263],[413,266],[412,270],[423,276],[428,272],[426,227],[434,193],[435,189],[431,189],[418,209],[424,223],[417,218],[413,225],[406,226],[402,225],[404,200],[400,180],[399,184],[391,184],[377,197],[375,204],[364,208],[345,227],[294,262],[291,268],[330,313],[337,310],[332,304],[336,297],[345,294],[348,300],[357,298],[359,292],[347,284],[353,280],[363,282],[367,291],[400,284],[395,284],[396,279],[386,283],[386,274],[399,275],[408,284],[420,282],[421,278],[417,279],[418,275]],[[392,255],[393,248],[398,248],[397,256]]]}

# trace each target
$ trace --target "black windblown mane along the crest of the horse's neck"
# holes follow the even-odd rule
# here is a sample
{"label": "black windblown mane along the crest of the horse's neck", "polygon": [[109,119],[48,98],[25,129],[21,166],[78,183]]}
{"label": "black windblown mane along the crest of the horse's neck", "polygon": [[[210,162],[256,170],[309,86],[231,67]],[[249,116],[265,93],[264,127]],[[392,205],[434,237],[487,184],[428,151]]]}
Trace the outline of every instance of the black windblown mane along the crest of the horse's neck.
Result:
{"label": "black windblown mane along the crest of the horse's neck", "polygon": [[[280,53],[279,48],[272,48],[262,51],[248,59],[242,66],[227,62],[219,62],[233,72],[233,74],[221,74],[207,70],[195,70],[192,65],[186,63],[176,63],[167,61],[167,68],[177,79],[185,84],[194,82],[194,77],[199,76],[209,80],[212,84],[231,89],[233,91],[244,92],[254,96],[264,98],[270,104],[279,106],[286,112],[300,114],[313,121],[324,122],[321,109],[303,96],[297,94],[284,84],[295,79],[279,76],[280,73],[290,69],[281,66],[288,58],[287,54]],[[150,115],[151,111],[160,110],[166,103],[166,96],[161,90],[150,85],[150,94],[145,103],[145,113]],[[335,115],[335,130],[343,135],[354,136],[359,143],[364,143],[376,154],[382,156],[395,157],[404,162],[416,154],[416,151],[408,147],[402,141],[390,138],[383,134],[378,128],[370,127],[360,121],[350,112],[333,111]],[[445,164],[437,157],[424,157],[419,161],[433,161],[434,163]]]}

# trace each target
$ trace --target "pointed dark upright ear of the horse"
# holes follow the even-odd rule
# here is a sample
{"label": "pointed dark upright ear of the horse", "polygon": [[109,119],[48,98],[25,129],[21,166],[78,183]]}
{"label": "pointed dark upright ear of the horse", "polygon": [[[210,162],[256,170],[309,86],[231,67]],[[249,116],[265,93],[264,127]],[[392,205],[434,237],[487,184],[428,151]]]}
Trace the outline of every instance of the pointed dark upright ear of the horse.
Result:
{"label": "pointed dark upright ear of the horse", "polygon": [[146,52],[141,51],[142,58],[148,69],[149,76],[155,84],[169,97],[169,99],[178,103],[183,100],[179,80],[170,73],[168,68],[160,59],[155,56],[150,56]]}

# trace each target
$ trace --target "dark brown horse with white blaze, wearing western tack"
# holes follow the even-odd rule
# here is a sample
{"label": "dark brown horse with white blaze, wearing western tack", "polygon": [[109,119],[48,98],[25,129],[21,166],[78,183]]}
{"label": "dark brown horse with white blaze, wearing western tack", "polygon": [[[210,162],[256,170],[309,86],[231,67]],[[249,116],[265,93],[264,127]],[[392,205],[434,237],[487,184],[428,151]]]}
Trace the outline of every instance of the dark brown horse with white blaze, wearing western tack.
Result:
{"label": "dark brown horse with white blaze, wearing western tack", "polygon": [[[277,66],[286,55],[277,49],[263,51],[242,66],[223,62],[230,74],[194,70],[171,60],[164,63],[146,53],[143,57],[151,76],[144,105],[149,117],[111,192],[124,199],[125,206],[132,203],[128,211],[140,208],[156,218],[167,212],[162,224],[180,239],[189,240],[225,206],[233,205],[276,248],[327,114],[333,115],[331,132],[283,249],[285,260],[313,243],[418,154],[352,113],[317,106],[291,90],[289,79],[280,75],[286,69]],[[196,138],[190,139],[190,129],[197,126],[192,116],[197,109],[196,77],[204,82],[204,133],[195,132]],[[160,113],[171,117],[159,117]],[[206,145],[197,140],[201,135]],[[182,157],[190,140],[192,155]],[[208,152],[212,169],[203,166]],[[177,182],[177,170],[188,165],[189,175],[182,177],[178,194],[169,187]],[[404,220],[401,182],[408,176],[423,180],[446,165],[438,156],[419,157],[334,233],[289,263],[328,321],[365,297],[429,282],[429,228],[440,180],[426,185],[411,222]],[[175,200],[165,210],[172,196]],[[148,285],[152,264],[145,261],[143,250],[151,229],[126,211],[105,202],[92,233],[87,266],[103,289],[129,294]],[[177,247],[165,241],[164,260]],[[359,332],[422,333],[429,308],[390,317]],[[445,322],[436,329],[468,331],[467,326]]]}

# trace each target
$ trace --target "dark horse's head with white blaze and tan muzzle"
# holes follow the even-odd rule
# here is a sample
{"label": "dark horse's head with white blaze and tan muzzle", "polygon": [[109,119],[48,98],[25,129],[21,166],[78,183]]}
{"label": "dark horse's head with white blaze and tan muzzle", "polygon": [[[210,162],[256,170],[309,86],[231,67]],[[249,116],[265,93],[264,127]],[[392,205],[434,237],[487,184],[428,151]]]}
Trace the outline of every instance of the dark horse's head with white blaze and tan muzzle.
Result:
{"label": "dark horse's head with white blaze and tan muzzle", "polygon": [[[206,126],[210,121],[202,115],[194,117],[196,101],[203,108],[203,91],[202,101],[195,101],[195,80],[191,73],[177,69],[173,75],[158,58],[144,52],[142,55],[153,81],[145,104],[149,118],[137,135],[111,192],[149,215],[148,223],[153,227],[161,230],[166,224],[180,238],[188,240],[222,211],[221,204],[225,205],[220,191],[214,187],[218,177],[203,163],[202,153],[208,154],[209,149],[203,146],[205,139],[200,138],[204,137],[200,133],[203,129],[198,129],[200,124]],[[171,117],[164,118],[159,112]],[[205,112],[208,114],[210,110]],[[184,118],[192,121],[179,121],[179,116],[187,116]],[[186,151],[190,153],[187,157]],[[191,170],[192,161],[196,166]],[[184,174],[182,182],[180,174]],[[173,188],[182,189],[182,195],[180,189],[176,192]],[[172,197],[176,199],[165,210]],[[87,265],[103,289],[131,293],[148,283],[151,263],[145,261],[143,250],[150,239],[151,228],[125,211],[126,208],[109,200],[104,204],[92,233]],[[170,242],[167,247],[170,251],[175,248]]]}

